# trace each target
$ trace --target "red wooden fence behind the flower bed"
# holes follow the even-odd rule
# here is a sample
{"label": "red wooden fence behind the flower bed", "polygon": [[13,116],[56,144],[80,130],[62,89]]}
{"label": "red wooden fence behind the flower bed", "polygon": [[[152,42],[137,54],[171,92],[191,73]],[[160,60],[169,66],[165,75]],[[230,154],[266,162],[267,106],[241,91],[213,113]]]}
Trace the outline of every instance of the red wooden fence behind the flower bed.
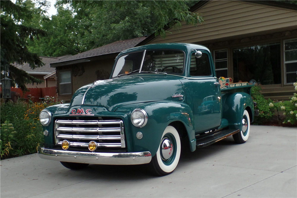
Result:
{"label": "red wooden fence behind the flower bed", "polygon": [[[31,100],[33,102],[40,101],[39,98],[44,98],[45,96],[56,96],[56,87],[45,87],[45,88],[28,88],[29,91],[27,91],[25,94],[23,94],[23,91],[20,88],[11,88],[11,91],[15,91],[20,94],[20,98],[26,98],[28,99],[28,95],[31,95]],[[2,93],[2,88],[0,89]],[[13,97],[13,96],[12,96]]]}

